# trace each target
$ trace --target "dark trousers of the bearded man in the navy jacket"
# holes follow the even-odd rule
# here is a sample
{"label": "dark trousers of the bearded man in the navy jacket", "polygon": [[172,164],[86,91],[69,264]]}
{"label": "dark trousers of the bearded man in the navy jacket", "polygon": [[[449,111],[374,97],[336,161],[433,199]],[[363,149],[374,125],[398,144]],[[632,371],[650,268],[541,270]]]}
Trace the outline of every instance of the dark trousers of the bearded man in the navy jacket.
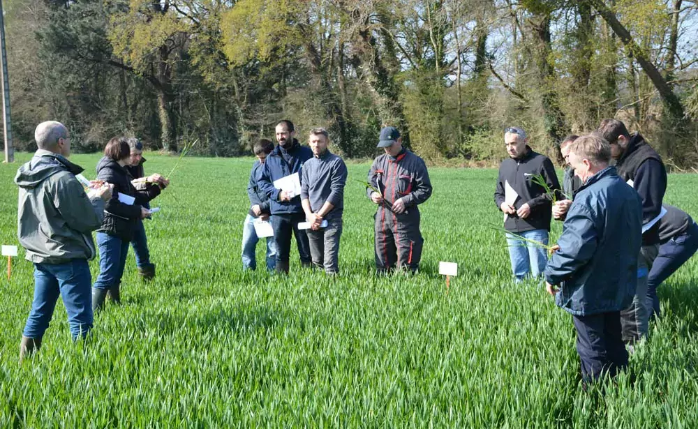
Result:
{"label": "dark trousers of the bearded man in the navy jacket", "polygon": [[288,259],[291,255],[291,234],[296,237],[301,264],[310,266],[310,245],[308,236],[298,223],[305,222],[305,213],[279,213],[272,216],[274,243],[276,244],[276,271],[288,271]]}

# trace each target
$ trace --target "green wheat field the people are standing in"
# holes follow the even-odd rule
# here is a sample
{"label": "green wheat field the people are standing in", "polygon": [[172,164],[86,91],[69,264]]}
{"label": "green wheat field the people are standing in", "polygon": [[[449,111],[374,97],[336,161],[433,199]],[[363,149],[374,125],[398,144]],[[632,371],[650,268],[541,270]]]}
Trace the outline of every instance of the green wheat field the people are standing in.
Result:
{"label": "green wheat field the people are standing in", "polygon": [[[3,244],[18,244],[13,177],[30,157],[0,165]],[[92,179],[98,158],[71,160]],[[146,158],[147,174],[177,162]],[[421,272],[377,278],[376,208],[355,181],[369,165],[349,165],[341,275],[301,269],[293,246],[286,278],[242,271],[251,164],[184,159],[146,224],[156,280],[140,281],[131,250],[123,304],[96,317],[94,336],[73,343],[59,304],[43,348],[22,365],[34,283],[20,249],[0,281],[0,426],[698,427],[697,257],[660,289],[664,319],[630,371],[585,392],[570,315],[542,285],[510,280],[491,227],[502,220],[496,170],[432,168]],[[666,201],[698,216],[698,175],[670,175]],[[439,261],[459,264],[448,294]],[[97,260],[91,268],[94,280]]]}

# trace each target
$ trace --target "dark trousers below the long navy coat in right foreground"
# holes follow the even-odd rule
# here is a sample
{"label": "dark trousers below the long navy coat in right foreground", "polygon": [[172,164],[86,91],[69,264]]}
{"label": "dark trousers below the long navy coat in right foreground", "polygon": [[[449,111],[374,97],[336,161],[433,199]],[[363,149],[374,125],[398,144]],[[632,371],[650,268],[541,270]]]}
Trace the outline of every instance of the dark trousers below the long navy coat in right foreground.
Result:
{"label": "dark trousers below the long navy coat in right foreground", "polygon": [[577,353],[581,377],[593,382],[602,376],[615,377],[628,366],[628,351],[621,337],[621,312],[572,316],[577,329]]}

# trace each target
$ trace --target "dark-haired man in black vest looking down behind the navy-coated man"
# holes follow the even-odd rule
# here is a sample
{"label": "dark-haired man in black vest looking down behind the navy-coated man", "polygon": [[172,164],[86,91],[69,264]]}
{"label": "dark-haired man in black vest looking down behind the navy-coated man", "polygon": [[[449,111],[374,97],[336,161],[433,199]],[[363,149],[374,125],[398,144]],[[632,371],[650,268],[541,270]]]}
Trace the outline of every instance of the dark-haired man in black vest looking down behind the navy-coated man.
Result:
{"label": "dark-haired man in black vest looking down behind the navy-coated man", "polygon": [[618,176],[632,186],[642,200],[642,247],[637,258],[637,289],[630,307],[621,312],[623,341],[631,344],[647,334],[647,278],[659,251],[659,220],[664,192],[667,190],[667,170],[662,158],[635,133],[630,136],[625,124],[616,119],[604,119],[597,132],[611,144],[611,156],[616,160]]}

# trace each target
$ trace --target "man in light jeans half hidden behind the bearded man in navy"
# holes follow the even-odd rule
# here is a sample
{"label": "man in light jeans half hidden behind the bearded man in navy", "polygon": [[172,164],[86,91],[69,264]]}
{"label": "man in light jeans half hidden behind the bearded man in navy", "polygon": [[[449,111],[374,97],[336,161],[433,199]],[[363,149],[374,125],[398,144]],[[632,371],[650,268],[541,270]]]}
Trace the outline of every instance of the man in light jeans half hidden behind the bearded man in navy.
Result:
{"label": "man in light jeans half hidden behind the bearded man in navy", "polygon": [[[274,150],[274,143],[271,140],[260,139],[252,148],[257,160],[252,165],[250,181],[247,184],[247,196],[250,199],[250,210],[245,216],[242,227],[242,269],[257,269],[257,256],[255,250],[260,241],[255,231],[255,220],[270,220],[269,197],[260,190],[257,184],[257,177],[264,167],[265,160],[269,153]],[[276,246],[274,237],[267,237],[267,270],[272,271],[276,266]]]}

